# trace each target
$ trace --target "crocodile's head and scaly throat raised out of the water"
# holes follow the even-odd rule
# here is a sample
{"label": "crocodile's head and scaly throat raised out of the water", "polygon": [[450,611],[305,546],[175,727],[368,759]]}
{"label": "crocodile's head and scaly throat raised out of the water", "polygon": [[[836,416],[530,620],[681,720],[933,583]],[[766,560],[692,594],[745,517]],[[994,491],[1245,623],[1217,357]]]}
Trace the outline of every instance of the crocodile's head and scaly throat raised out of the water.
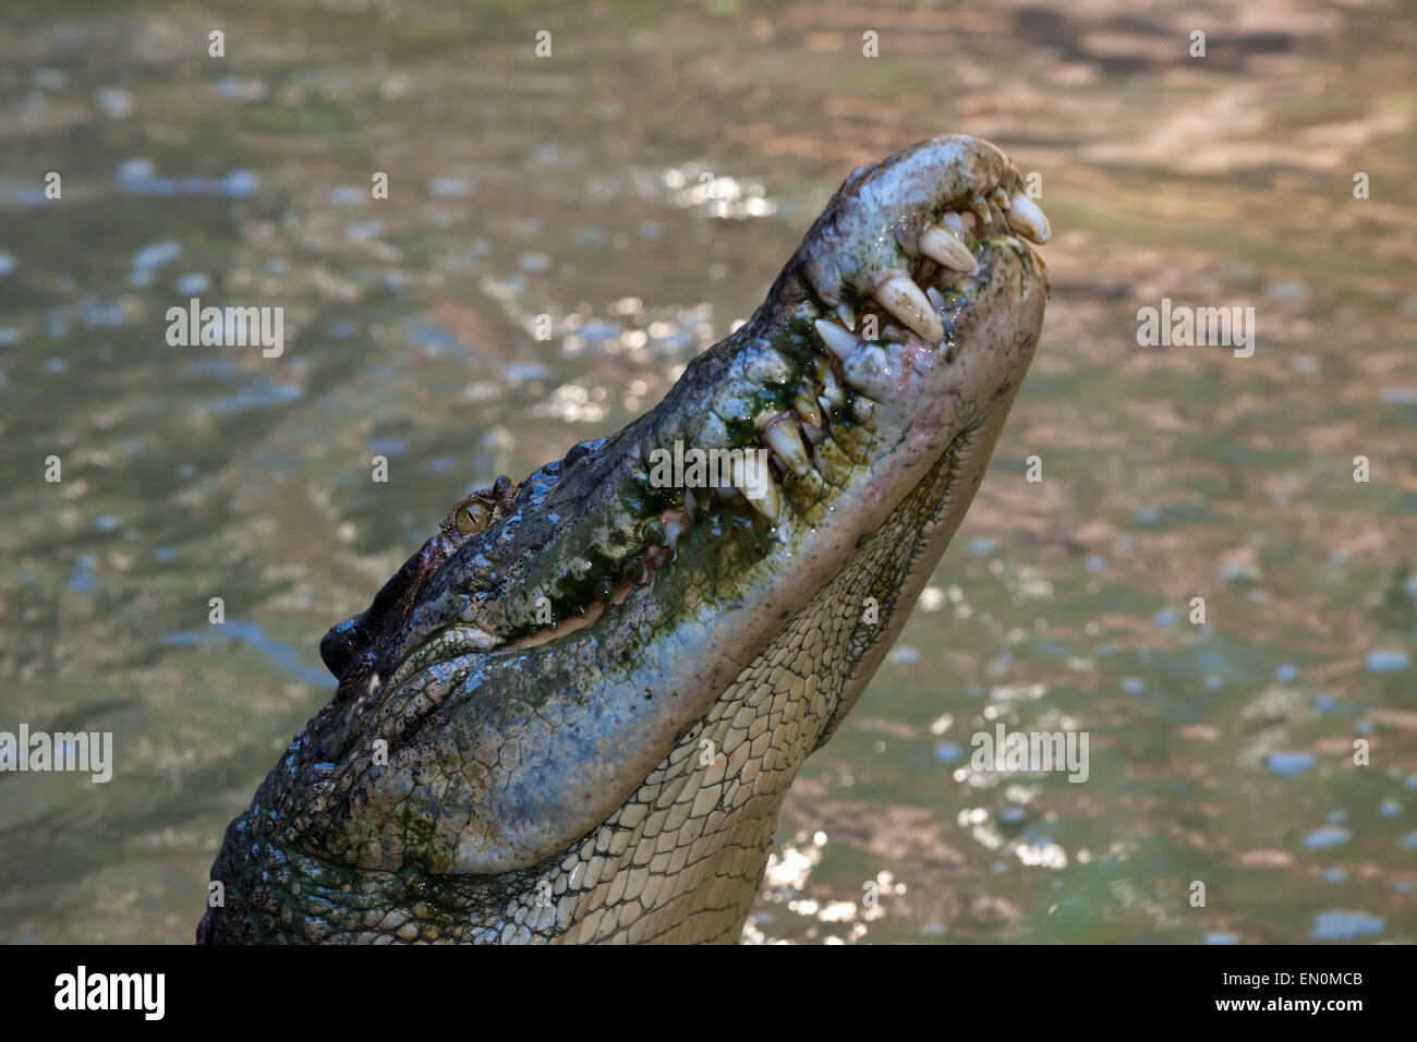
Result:
{"label": "crocodile's head and scaly throat raised out of the water", "polygon": [[971,138],[857,170],[656,408],[453,508],[322,642],[198,939],[735,940],[1027,370],[1020,189]]}

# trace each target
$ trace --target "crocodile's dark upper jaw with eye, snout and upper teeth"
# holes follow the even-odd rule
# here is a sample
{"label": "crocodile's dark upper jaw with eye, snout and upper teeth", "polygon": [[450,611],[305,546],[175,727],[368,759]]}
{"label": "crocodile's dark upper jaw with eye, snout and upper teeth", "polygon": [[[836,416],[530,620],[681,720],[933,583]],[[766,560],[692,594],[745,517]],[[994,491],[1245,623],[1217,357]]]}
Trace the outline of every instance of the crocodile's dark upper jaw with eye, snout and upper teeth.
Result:
{"label": "crocodile's dark upper jaw with eye, snout and upper teeth", "polygon": [[[659,502],[632,503],[626,488],[643,485],[656,448],[767,448],[775,481],[738,482],[738,491],[775,525],[792,506],[784,479],[802,485],[823,439],[871,428],[884,438],[893,420],[910,421],[935,408],[932,398],[959,394],[958,371],[948,379],[942,370],[955,366],[979,320],[969,303],[1003,282],[993,272],[998,247],[1017,252],[1047,292],[1046,268],[1015,237],[1041,242],[1050,234],[1020,184],[996,146],[964,136],[921,142],[854,172],[752,320],[696,359],[657,408],[614,438],[575,447],[520,486],[502,478],[458,503],[371,608],[327,634],[322,655],[343,693],[387,679],[404,652],[439,627],[465,624],[463,646],[486,651],[537,628],[529,621],[538,597],[548,598],[558,622],[582,615],[594,600],[622,600],[626,583],[643,584],[642,573],[667,557],[697,512],[733,496],[735,476],[761,476],[748,469],[717,491],[686,498],[665,489],[650,493]],[[989,303],[1012,309],[1022,301]],[[877,319],[870,340],[869,318]],[[893,405],[900,415],[883,414]],[[656,520],[646,537],[646,522]],[[608,551],[608,560],[581,559],[588,547]],[[519,564],[529,550],[537,560]],[[469,590],[502,586],[512,573],[521,573],[529,597],[468,600]]]}

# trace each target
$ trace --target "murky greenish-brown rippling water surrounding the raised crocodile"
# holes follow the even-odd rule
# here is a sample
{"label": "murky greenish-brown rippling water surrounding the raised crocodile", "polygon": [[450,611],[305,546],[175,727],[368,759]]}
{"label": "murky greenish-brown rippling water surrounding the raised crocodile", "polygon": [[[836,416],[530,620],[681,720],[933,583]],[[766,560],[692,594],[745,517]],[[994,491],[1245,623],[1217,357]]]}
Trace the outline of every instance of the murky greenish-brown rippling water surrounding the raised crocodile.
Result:
{"label": "murky greenish-brown rippling water surrounding the raised crocodile", "polygon": [[[1043,342],[745,937],[1417,940],[1414,13],[6,0],[0,729],[116,763],[0,774],[0,940],[191,941],[326,628],[951,132],[1041,177]],[[167,346],[190,296],[282,306],[283,354]],[[1253,306],[1254,356],[1138,347],[1163,296]],[[972,771],[1000,722],[1087,730],[1091,777]]]}

